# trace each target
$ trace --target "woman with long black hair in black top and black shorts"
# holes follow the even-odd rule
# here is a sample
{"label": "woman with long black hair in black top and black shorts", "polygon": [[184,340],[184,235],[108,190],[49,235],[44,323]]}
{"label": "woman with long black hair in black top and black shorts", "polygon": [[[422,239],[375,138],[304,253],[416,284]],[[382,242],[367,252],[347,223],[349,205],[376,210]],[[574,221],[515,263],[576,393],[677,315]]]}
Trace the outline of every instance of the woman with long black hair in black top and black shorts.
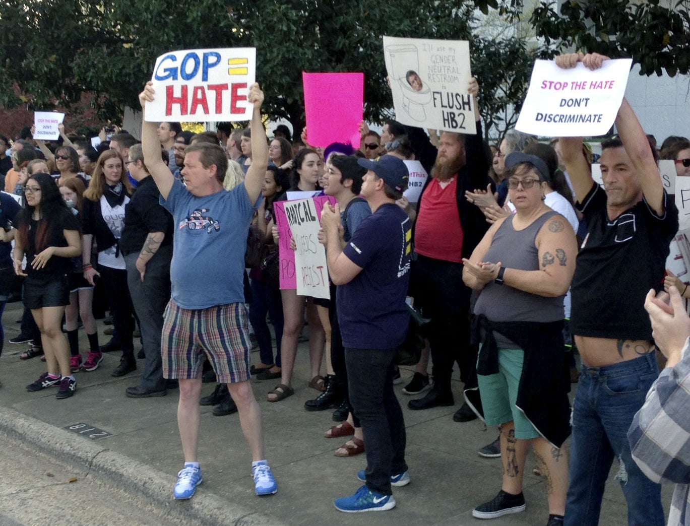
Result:
{"label": "woman with long black hair in black top and black shorts", "polygon": [[[14,245],[14,272],[24,279],[24,305],[41,331],[48,372],[28,391],[59,384],[57,398],[75,393],[70,373],[70,352],[62,334],[62,316],[70,303],[70,258],[81,254],[79,221],[67,208],[55,181],[48,174],[34,174],[26,181],[26,208],[21,212]],[[21,264],[26,255],[26,269]]]}

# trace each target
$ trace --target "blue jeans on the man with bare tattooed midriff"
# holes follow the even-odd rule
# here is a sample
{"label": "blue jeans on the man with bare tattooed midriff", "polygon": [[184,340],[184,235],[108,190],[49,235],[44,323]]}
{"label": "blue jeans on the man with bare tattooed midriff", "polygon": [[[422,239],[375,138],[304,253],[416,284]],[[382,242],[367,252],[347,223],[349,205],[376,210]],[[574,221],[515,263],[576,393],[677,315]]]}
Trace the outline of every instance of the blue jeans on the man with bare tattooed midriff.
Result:
{"label": "blue jeans on the man with bare tattooed midriff", "polygon": [[628,524],[664,526],[661,486],[635,464],[627,438],[633,416],[657,376],[653,352],[605,367],[582,365],[573,403],[565,526],[599,524],[604,484],[614,456],[620,463],[615,480],[628,503]]}

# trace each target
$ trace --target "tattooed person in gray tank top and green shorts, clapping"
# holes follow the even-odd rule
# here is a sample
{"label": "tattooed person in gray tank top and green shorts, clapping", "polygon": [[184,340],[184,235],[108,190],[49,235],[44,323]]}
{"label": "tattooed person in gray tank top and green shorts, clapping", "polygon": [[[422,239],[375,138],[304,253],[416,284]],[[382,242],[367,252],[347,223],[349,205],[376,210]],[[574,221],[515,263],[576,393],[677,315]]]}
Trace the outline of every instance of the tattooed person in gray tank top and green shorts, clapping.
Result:
{"label": "tattooed person in gray tank top and green shorts, clapping", "polygon": [[569,377],[562,344],[563,296],[575,271],[575,232],[544,205],[548,169],[537,156],[506,157],[516,213],[486,232],[463,280],[477,291],[475,321],[482,348],[477,363],[487,425],[500,429],[501,491],[473,516],[494,518],[525,509],[522,477],[532,444],[549,488],[547,526],[562,525],[570,434]]}

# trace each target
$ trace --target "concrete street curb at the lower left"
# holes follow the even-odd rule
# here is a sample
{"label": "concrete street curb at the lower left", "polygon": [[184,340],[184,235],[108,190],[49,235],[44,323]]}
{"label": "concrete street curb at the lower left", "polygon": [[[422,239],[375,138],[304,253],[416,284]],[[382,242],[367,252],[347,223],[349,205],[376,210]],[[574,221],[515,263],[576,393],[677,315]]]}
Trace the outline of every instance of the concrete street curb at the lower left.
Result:
{"label": "concrete street curb at the lower left", "polygon": [[87,473],[95,473],[129,494],[149,500],[160,511],[186,523],[208,526],[282,526],[275,518],[258,514],[249,507],[230,505],[217,495],[201,492],[190,500],[172,498],[175,479],[127,456],[88,441],[75,445],[75,436],[64,429],[0,407],[0,433],[30,445]]}

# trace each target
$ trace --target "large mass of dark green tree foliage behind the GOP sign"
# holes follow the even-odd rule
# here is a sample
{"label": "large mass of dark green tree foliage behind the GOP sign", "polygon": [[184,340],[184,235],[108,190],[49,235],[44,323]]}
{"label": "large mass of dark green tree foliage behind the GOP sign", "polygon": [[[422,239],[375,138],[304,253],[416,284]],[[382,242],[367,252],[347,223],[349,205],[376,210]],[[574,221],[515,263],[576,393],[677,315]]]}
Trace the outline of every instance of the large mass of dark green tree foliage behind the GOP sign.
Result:
{"label": "large mass of dark green tree foliage behind the GOP sign", "polygon": [[[0,0],[0,103],[49,108],[95,94],[101,118],[118,119],[170,50],[257,48],[266,113],[304,125],[302,71],[365,74],[365,119],[390,117],[381,37],[466,39],[484,94],[484,116],[522,100],[531,70],[520,41],[473,37],[476,8],[495,0]],[[231,8],[228,6],[232,6]],[[502,12],[507,12],[502,8]],[[518,49],[519,48],[519,49]],[[522,50],[520,59],[515,52]],[[525,71],[522,71],[522,68]],[[522,91],[519,89],[521,85]],[[496,100],[491,97],[497,95]],[[488,112],[488,113],[487,113]]]}

